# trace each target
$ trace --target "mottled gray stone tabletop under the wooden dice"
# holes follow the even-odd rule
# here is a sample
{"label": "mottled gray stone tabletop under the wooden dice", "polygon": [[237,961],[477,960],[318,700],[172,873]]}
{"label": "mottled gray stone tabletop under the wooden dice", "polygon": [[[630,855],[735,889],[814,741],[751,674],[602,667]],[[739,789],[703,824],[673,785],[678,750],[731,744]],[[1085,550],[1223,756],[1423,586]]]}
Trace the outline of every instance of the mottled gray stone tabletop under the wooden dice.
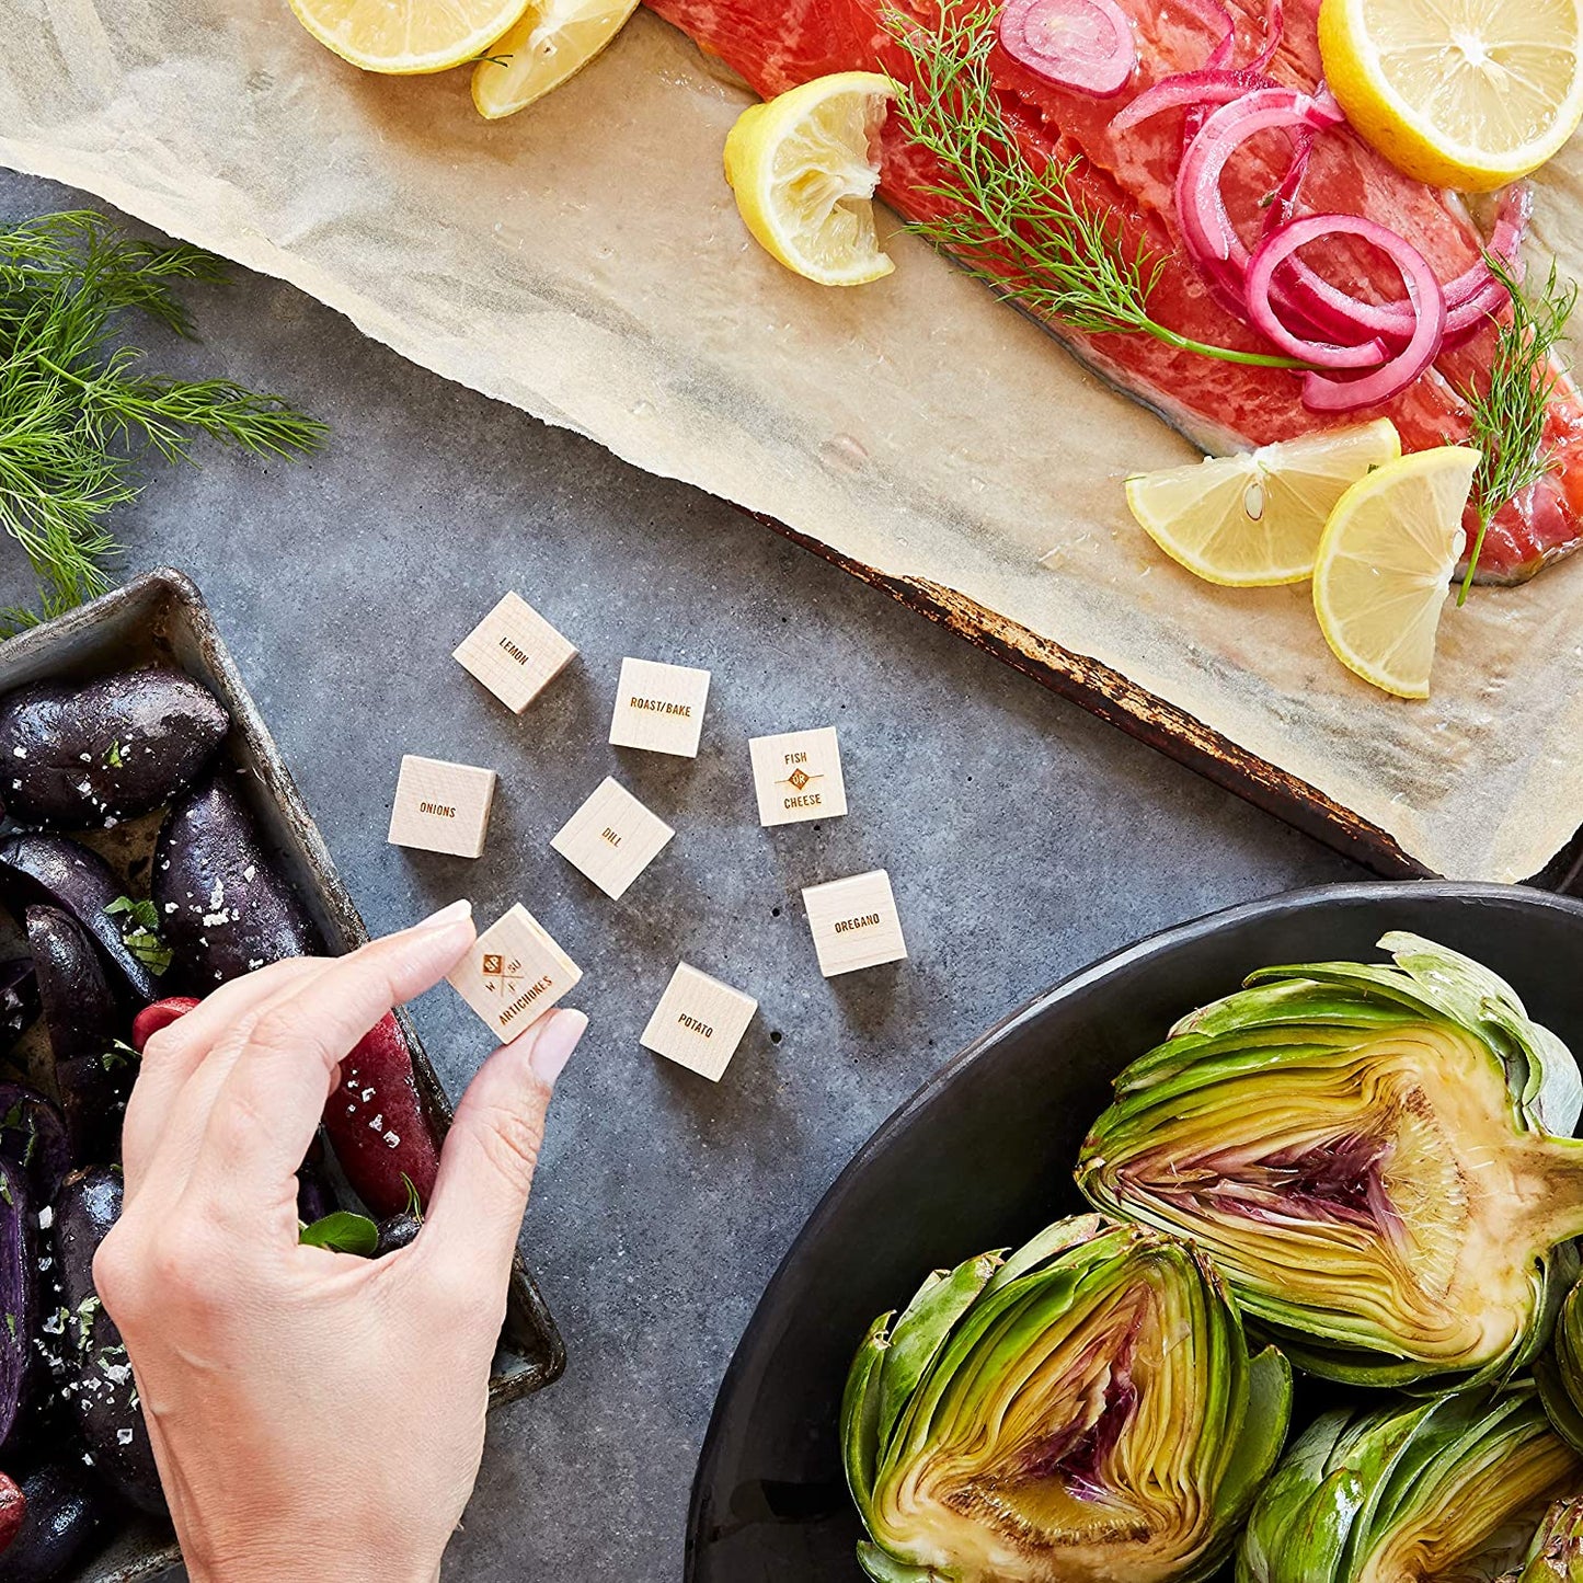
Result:
{"label": "mottled gray stone tabletop under the wooden dice", "polygon": [[[0,174],[0,215],[74,203]],[[204,589],[374,931],[526,901],[584,967],[592,1029],[551,1118],[526,1247],[567,1341],[495,1415],[446,1577],[673,1580],[716,1387],[804,1216],[958,1046],[1092,958],[1357,877],[1295,834],[749,521],[448,385],[271,280],[193,293],[169,370],[334,424],[306,465],[204,453],[119,521],[128,570]],[[1057,353],[1051,353],[1056,356]],[[0,597],[17,556],[0,546]],[[450,659],[507,589],[581,659],[521,719]],[[605,742],[624,654],[714,673],[695,763]],[[834,723],[852,814],[763,831],[747,738]],[[385,845],[402,752],[492,765],[478,863]],[[548,847],[605,774],[678,837],[619,904]],[[798,888],[890,869],[912,958],[826,983]],[[761,1000],[719,1086],[638,1046],[678,958]],[[488,1038],[416,1018],[459,1092]]]}

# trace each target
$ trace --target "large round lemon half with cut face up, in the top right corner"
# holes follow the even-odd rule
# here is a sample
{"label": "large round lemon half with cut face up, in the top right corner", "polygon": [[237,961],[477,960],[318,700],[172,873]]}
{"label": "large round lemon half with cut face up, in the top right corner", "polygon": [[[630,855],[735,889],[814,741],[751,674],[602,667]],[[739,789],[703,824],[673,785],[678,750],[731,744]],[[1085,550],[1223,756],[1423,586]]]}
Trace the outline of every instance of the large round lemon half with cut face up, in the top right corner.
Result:
{"label": "large round lemon half with cut face up, in the top right corner", "polygon": [[1436,187],[1526,176],[1583,116],[1583,0],[1323,0],[1319,49],[1358,135]]}

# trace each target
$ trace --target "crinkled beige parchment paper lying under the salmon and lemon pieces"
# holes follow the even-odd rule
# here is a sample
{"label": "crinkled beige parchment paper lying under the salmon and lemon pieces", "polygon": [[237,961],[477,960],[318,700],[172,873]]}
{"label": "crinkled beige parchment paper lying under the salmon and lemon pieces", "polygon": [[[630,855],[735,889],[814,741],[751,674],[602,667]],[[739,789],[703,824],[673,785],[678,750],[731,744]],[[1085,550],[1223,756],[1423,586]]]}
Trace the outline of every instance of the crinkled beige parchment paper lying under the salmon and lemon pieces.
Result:
{"label": "crinkled beige parchment paper lying under the salmon and lemon pieces", "polygon": [[[1306,586],[1220,590],[1162,557],[1122,480],[1195,453],[923,244],[893,234],[896,274],[853,291],[765,256],[720,174],[749,95],[649,13],[488,123],[465,71],[364,76],[285,0],[228,11],[0,0],[0,161],[1091,655],[1437,872],[1523,879],[1583,822],[1583,554],[1448,609],[1433,700],[1390,700],[1331,659]],[[1536,222],[1569,268],[1580,217],[1575,139]]]}

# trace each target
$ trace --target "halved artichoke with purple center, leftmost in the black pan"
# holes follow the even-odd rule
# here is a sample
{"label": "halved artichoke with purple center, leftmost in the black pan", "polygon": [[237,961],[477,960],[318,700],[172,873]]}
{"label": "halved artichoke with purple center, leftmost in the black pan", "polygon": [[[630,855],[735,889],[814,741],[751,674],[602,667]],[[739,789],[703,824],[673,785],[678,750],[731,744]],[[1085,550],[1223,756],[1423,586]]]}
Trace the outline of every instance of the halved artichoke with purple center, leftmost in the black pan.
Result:
{"label": "halved artichoke with purple center, leftmost in the black pan", "polygon": [[1292,1371],[1249,1357],[1176,1238],[1059,1220],[874,1322],[841,1414],[879,1583],[1201,1578],[1285,1439]]}

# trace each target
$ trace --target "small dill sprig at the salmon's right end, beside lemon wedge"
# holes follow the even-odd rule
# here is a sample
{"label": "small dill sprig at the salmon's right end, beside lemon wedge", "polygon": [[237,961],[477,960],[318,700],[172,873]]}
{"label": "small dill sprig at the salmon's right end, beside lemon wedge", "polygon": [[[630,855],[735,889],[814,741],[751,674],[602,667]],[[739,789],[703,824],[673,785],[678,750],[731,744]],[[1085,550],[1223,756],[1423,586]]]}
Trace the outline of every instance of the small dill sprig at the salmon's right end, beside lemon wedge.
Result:
{"label": "small dill sprig at the salmon's right end, beside lemon wedge", "polygon": [[1496,331],[1490,383],[1482,393],[1463,393],[1472,408],[1467,438],[1480,453],[1472,488],[1479,533],[1458,605],[1474,586],[1479,552],[1496,511],[1556,465],[1555,445],[1545,438],[1545,416],[1556,389],[1555,351],[1578,298],[1577,283],[1562,285],[1555,264],[1539,296],[1531,298],[1502,260],[1488,256],[1486,263],[1512,299],[1512,317]]}

